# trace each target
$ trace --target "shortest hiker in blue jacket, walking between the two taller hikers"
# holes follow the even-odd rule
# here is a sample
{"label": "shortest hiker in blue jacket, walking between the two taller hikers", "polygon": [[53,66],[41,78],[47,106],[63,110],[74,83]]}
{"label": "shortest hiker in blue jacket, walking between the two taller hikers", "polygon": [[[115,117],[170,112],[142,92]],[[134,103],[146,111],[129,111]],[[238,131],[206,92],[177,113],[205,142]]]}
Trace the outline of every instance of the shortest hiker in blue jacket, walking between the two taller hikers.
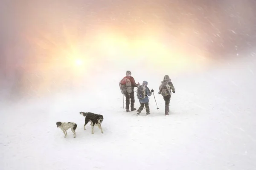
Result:
{"label": "shortest hiker in blue jacket, walking between the two taller hikers", "polygon": [[143,81],[143,84],[142,85],[145,85],[145,92],[146,92],[146,95],[145,95],[145,98],[144,99],[139,99],[139,102],[140,102],[140,108],[138,109],[137,111],[137,116],[140,114],[140,112],[143,110],[144,106],[146,108],[146,115],[150,114],[150,110],[149,110],[149,105],[148,105],[148,102],[149,102],[149,99],[148,99],[148,96],[151,96],[151,94],[154,92],[154,90],[152,89],[151,91],[149,90],[148,88],[148,82],[147,81]]}

